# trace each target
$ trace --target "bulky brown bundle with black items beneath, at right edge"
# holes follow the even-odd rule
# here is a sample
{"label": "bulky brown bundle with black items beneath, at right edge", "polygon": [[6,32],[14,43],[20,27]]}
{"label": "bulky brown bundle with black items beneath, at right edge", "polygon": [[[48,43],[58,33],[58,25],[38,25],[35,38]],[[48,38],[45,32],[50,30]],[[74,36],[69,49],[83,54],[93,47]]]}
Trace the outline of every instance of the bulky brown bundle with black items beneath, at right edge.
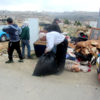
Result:
{"label": "bulky brown bundle with black items beneath, at right edge", "polygon": [[99,50],[100,40],[82,41],[76,44],[75,55],[81,63],[85,61],[88,62],[88,64],[95,64]]}

